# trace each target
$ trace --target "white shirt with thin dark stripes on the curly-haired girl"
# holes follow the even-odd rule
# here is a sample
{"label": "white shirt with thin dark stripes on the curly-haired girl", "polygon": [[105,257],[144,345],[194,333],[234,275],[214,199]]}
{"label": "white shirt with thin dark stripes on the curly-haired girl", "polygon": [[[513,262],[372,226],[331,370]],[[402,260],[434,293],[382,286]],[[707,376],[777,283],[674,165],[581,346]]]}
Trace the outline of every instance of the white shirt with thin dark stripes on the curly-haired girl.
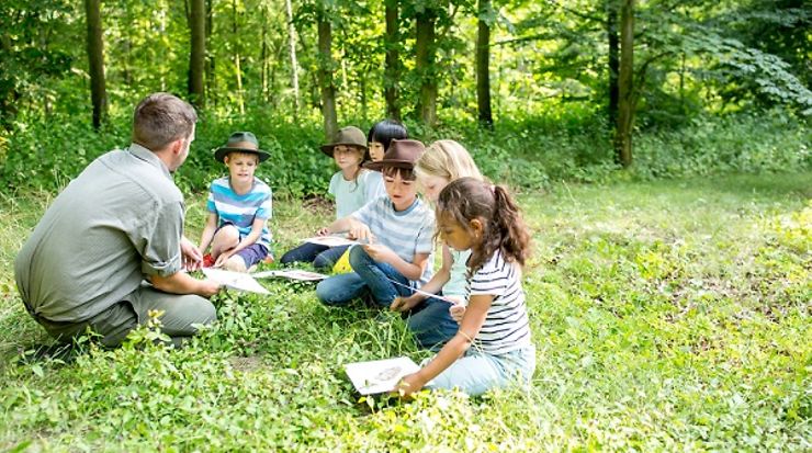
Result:
{"label": "white shirt with thin dark stripes on the curly-haired girl", "polygon": [[483,352],[498,355],[530,344],[530,326],[521,288],[521,267],[497,250],[467,281],[469,296],[494,296],[474,339]]}

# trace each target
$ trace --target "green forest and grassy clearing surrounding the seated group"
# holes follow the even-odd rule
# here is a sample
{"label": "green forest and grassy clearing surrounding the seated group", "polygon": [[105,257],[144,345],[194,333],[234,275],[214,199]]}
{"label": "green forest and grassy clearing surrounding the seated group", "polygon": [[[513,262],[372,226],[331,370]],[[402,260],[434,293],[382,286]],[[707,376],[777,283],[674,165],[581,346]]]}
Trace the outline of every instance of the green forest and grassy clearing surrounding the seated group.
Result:
{"label": "green forest and grassy clearing surrounding the seated group", "polygon": [[[809,451],[811,23],[808,0],[1,1],[0,449]],[[52,355],[15,253],[155,91],[201,116],[190,236],[247,129],[278,253],[332,215],[337,127],[462,143],[533,233],[532,392],[359,400],[343,363],[427,353],[287,282],[217,296],[183,350]]]}

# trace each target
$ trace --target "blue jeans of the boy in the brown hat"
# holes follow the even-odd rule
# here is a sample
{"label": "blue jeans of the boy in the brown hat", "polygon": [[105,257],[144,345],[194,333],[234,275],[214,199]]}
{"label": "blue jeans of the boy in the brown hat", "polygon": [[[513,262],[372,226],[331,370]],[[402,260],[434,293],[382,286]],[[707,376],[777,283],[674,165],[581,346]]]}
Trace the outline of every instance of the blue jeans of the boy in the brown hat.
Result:
{"label": "blue jeans of the boy in the brown hat", "polygon": [[392,279],[408,286],[409,281],[401,272],[391,264],[373,260],[361,246],[350,249],[350,265],[353,272],[332,275],[318,283],[316,296],[319,301],[326,305],[340,306],[369,294],[376,305],[388,307],[395,297],[411,295],[411,290],[386,280]]}

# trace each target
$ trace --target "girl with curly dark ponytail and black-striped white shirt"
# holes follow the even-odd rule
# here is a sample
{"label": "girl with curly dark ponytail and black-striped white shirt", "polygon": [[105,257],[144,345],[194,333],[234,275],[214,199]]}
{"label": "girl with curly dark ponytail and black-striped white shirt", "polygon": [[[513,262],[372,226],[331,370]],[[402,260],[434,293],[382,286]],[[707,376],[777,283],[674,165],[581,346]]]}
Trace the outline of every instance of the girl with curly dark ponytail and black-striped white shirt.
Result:
{"label": "girl with curly dark ponytail and black-striped white shirt", "polygon": [[519,380],[529,384],[535,349],[521,288],[529,252],[516,202],[501,186],[474,178],[447,185],[437,201],[438,235],[454,250],[471,249],[469,304],[456,335],[396,390],[409,396],[428,388],[459,388],[481,395]]}

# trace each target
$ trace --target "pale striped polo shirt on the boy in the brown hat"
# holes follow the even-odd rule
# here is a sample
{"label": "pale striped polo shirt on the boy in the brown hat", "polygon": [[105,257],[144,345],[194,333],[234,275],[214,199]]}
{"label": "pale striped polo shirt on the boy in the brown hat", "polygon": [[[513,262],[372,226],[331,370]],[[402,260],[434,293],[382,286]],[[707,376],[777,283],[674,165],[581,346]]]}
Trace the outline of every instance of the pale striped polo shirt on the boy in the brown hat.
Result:
{"label": "pale striped polo shirt on the boy in the brown hat", "polygon": [[379,244],[392,249],[406,262],[415,262],[417,253],[429,253],[429,264],[420,276],[419,284],[414,281],[411,284],[420,286],[431,279],[435,212],[426,203],[415,199],[411,206],[398,212],[390,197],[384,195],[366,203],[350,216],[369,226]]}

